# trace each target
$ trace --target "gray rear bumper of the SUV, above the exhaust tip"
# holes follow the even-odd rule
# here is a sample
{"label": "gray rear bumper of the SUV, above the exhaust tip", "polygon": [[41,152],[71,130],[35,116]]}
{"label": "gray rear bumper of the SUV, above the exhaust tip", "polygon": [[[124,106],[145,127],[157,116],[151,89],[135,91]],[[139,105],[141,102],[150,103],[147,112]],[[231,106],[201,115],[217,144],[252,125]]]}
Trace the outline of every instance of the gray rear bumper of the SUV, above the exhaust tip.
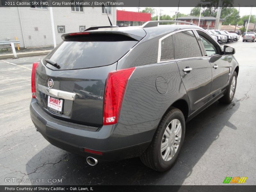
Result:
{"label": "gray rear bumper of the SUV, above the exhaust tip", "polygon": [[[136,125],[117,123],[98,128],[68,123],[49,116],[31,100],[30,116],[37,130],[52,145],[82,156],[101,161],[117,161],[140,156],[150,144],[160,120]],[[94,131],[92,131],[94,130]],[[84,148],[103,155],[84,152]]]}

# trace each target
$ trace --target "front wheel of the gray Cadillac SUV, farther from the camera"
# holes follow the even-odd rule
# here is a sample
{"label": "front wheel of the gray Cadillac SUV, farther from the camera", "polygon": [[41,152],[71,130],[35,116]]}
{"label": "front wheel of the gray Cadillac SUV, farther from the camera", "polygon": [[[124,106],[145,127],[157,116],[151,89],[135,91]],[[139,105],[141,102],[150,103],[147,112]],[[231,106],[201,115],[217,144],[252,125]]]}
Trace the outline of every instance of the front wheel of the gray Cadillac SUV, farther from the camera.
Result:
{"label": "front wheel of the gray Cadillac SUV, farther from the camera", "polygon": [[[233,79],[235,79],[235,84],[233,82]],[[230,82],[229,82],[229,85],[228,85],[228,90],[227,92],[225,93],[225,95],[223,97],[221,97],[219,99],[220,103],[231,103],[233,98],[234,98],[234,95],[235,95],[235,92],[236,92],[236,81],[237,80],[237,74],[236,74],[236,71],[233,73],[233,75],[231,76],[231,79],[230,79]],[[231,95],[231,92],[232,95]]]}

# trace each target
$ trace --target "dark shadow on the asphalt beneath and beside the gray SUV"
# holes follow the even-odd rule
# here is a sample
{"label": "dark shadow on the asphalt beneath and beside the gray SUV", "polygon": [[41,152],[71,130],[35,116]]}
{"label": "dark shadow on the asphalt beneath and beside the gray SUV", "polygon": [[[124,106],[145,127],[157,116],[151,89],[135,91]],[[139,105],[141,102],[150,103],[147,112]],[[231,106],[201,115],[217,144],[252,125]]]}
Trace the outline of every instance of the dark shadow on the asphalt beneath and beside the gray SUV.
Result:
{"label": "dark shadow on the asphalt beneath and beside the gray SUV", "polygon": [[[27,176],[34,180],[62,179],[59,183],[36,183],[41,185],[182,185],[193,169],[208,171],[207,166],[195,165],[200,160],[208,163],[202,156],[205,153],[204,156],[211,155],[209,148],[218,140],[223,129],[237,129],[229,119],[238,108],[239,100],[235,98],[228,105],[217,101],[188,122],[180,155],[172,169],[167,172],[151,170],[144,166],[139,158],[110,163],[100,162],[92,167],[86,163],[85,157],[71,154],[50,144],[28,161],[26,171],[30,174]],[[218,142],[222,140],[219,139]]]}

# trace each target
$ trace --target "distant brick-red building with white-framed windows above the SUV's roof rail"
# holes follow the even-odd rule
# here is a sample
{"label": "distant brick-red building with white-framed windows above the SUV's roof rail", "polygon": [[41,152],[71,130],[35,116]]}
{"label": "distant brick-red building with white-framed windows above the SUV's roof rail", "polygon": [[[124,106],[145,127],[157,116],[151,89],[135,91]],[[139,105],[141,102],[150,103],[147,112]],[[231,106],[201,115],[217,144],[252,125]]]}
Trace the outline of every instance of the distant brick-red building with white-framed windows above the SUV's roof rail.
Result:
{"label": "distant brick-red building with white-framed windows above the SUV's roof rail", "polygon": [[[190,22],[190,23],[194,23],[196,25],[198,25],[198,23],[199,23],[199,17],[198,16],[179,17],[178,20],[187,21],[187,22]],[[216,20],[215,17],[201,17],[199,27],[202,27],[204,29],[214,29],[215,28],[215,20]],[[224,19],[220,19],[218,29],[220,29],[222,21],[224,21]],[[184,23],[181,23],[181,24],[184,25]]]}

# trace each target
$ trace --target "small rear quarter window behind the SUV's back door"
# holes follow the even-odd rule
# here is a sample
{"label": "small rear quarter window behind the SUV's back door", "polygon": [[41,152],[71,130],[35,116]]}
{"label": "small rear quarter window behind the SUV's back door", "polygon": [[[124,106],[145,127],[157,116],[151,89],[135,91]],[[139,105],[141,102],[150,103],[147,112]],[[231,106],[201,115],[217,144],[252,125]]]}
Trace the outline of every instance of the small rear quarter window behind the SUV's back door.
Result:
{"label": "small rear quarter window behind the SUV's back door", "polygon": [[168,36],[161,41],[161,58],[160,61],[173,59],[173,42],[172,36]]}

